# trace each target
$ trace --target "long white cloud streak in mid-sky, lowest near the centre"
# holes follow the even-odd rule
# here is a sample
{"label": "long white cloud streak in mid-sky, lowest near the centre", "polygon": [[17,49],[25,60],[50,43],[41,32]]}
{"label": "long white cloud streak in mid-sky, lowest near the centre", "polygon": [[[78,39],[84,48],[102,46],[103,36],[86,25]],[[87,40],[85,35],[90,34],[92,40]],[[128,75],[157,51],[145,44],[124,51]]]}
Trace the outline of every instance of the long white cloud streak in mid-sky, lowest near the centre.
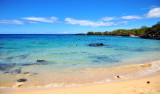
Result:
{"label": "long white cloud streak in mid-sky, lowest near the centre", "polygon": [[78,24],[81,26],[94,26],[94,27],[98,27],[98,26],[113,26],[113,25],[117,25],[113,22],[94,22],[94,21],[90,21],[90,20],[76,20],[73,18],[66,18],[65,21],[68,24]]}

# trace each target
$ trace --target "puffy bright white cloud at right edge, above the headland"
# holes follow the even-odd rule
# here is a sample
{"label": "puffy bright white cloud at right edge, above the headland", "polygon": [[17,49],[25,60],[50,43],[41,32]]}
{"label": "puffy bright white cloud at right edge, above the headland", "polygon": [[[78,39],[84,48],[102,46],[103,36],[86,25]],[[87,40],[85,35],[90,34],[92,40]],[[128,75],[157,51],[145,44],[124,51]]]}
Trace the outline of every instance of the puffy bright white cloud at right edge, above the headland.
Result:
{"label": "puffy bright white cloud at right edge, above the headland", "polygon": [[145,16],[147,18],[158,18],[158,17],[160,17],[160,7],[151,9]]}

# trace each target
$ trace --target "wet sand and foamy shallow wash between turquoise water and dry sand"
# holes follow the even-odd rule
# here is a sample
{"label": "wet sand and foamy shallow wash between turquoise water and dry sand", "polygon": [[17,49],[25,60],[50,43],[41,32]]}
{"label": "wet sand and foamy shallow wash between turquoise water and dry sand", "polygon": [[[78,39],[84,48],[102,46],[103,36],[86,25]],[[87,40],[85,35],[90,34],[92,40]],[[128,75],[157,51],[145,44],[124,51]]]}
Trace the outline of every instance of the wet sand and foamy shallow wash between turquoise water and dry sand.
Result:
{"label": "wet sand and foamy shallow wash between turquoise water and dry sand", "polygon": [[[160,60],[145,63],[131,64],[112,68],[87,68],[81,72],[65,71],[65,73],[39,73],[33,74],[4,74],[1,72],[1,78],[8,80],[0,81],[0,88],[49,88],[49,87],[74,87],[85,86],[99,83],[117,82],[124,80],[133,80],[153,74],[160,70]],[[4,76],[3,76],[4,75]],[[43,75],[43,76],[42,76]],[[58,77],[59,76],[59,77]],[[68,78],[67,78],[68,77]],[[25,78],[25,82],[17,82],[20,78]],[[63,80],[65,79],[65,80]],[[57,83],[59,82],[59,83]]]}

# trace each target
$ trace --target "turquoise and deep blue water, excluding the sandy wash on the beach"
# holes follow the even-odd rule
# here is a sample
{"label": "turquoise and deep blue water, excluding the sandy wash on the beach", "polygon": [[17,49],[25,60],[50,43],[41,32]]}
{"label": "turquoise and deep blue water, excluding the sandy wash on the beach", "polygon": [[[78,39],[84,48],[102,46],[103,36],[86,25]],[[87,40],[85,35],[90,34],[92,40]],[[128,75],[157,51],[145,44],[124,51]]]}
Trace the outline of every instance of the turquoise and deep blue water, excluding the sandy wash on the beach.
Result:
{"label": "turquoise and deep blue water, excluding the sandy wash on the beach", "polygon": [[[89,46],[93,43],[104,46]],[[0,81],[3,82],[29,72],[37,74],[33,78],[43,75],[54,79],[52,83],[60,83],[64,81],[62,78],[76,76],[87,68],[110,68],[159,59],[159,40],[87,35],[0,35]],[[21,72],[14,73],[16,68]]]}

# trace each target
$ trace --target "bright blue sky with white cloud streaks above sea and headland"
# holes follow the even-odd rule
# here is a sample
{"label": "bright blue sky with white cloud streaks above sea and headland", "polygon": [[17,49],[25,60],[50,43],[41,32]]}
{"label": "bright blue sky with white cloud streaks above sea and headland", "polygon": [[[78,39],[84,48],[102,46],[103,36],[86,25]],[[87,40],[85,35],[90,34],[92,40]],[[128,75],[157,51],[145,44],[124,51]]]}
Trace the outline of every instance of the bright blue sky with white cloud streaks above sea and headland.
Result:
{"label": "bright blue sky with white cloud streaks above sea and headland", "polygon": [[75,34],[151,27],[160,0],[0,0],[0,34]]}

